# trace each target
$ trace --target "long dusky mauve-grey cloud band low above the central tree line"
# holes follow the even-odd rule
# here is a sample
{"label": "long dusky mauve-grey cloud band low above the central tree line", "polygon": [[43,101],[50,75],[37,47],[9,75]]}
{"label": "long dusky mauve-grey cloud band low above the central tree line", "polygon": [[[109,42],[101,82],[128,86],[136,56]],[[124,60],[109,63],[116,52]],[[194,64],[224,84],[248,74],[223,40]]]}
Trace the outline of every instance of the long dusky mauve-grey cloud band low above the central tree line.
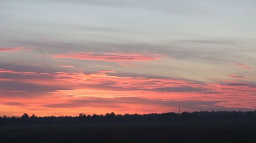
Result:
{"label": "long dusky mauve-grey cloud band low above the central tree line", "polygon": [[[97,97],[87,97],[80,98],[76,100],[70,100],[65,103],[54,103],[46,104],[45,107],[86,107],[86,106],[97,106],[97,107],[121,107],[122,104],[131,104],[135,106],[136,104],[150,105],[150,106],[165,106],[173,107],[181,105],[184,108],[189,109],[204,109],[203,106],[212,106],[221,101],[175,101],[175,100],[160,100],[160,99],[148,99],[139,97],[123,97],[123,98],[97,98]],[[201,107],[200,107],[201,106]]]}

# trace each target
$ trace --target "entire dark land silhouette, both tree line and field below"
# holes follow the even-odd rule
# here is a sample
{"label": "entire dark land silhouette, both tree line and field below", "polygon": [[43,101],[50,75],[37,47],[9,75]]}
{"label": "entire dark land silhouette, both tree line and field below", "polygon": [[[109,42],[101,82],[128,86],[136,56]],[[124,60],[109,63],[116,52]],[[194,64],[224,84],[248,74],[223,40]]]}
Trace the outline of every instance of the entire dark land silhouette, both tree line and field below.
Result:
{"label": "entire dark land silhouette, both tree line and field below", "polygon": [[0,142],[256,142],[256,111],[0,118]]}

